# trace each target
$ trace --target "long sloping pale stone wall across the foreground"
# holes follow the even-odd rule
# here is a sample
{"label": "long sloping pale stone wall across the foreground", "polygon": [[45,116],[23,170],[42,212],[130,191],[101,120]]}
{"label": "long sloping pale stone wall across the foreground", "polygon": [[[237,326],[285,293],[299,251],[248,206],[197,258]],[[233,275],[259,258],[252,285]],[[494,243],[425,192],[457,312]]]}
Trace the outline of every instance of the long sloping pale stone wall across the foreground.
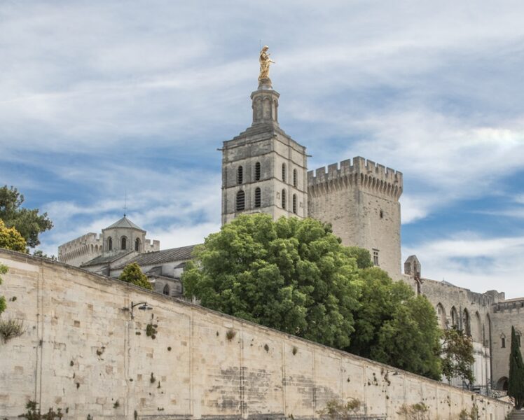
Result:
{"label": "long sloping pale stone wall across the foreground", "polygon": [[[10,267],[4,317],[27,328],[0,344],[2,418],[27,400],[67,409],[65,419],[313,419],[333,398],[358,398],[382,419],[399,419],[404,402],[424,402],[431,419],[474,404],[481,419],[511,409],[82,269],[9,251],[0,262]],[[131,313],[132,302],[153,309]]]}

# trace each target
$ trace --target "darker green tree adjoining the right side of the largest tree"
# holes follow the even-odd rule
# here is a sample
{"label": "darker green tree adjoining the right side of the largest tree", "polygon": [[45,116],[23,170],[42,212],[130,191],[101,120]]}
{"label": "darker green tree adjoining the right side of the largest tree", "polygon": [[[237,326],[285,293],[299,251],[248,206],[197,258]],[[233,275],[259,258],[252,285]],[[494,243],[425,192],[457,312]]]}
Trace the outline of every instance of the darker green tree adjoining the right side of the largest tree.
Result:
{"label": "darker green tree adjoining the right side of the largest tree", "polygon": [[440,330],[432,304],[378,267],[360,272],[351,353],[439,380]]}

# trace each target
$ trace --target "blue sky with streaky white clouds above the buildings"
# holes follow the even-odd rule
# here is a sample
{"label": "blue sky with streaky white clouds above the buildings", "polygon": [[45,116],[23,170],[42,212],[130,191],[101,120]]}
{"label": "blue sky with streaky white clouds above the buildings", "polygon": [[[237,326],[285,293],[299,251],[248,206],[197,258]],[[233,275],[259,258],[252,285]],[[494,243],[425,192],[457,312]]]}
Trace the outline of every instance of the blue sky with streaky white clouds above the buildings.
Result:
{"label": "blue sky with streaky white clouds above the buildings", "polygon": [[522,1],[0,0],[0,184],[41,250],[123,215],[162,248],[220,228],[217,148],[269,45],[280,126],[316,169],[404,174],[402,257],[524,296]]}

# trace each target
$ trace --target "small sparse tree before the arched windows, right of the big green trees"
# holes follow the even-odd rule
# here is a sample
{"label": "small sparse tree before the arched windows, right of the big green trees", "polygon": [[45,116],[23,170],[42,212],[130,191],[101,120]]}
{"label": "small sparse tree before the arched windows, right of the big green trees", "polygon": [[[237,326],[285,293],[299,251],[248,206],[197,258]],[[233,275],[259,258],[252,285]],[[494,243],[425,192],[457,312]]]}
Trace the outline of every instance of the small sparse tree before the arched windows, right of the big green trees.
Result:
{"label": "small sparse tree before the arched windows, right of the big green trees", "polygon": [[453,377],[467,379],[473,384],[475,377],[472,365],[475,362],[473,356],[473,342],[456,327],[442,332],[442,374],[448,381]]}

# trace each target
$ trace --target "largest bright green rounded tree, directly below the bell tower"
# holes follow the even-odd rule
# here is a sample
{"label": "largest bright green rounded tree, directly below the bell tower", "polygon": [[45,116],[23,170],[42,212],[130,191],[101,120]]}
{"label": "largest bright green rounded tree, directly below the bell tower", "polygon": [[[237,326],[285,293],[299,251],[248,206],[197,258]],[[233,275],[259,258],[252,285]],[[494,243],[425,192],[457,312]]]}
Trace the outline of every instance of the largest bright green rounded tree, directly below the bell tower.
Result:
{"label": "largest bright green rounded tree, directly below the bell tower", "polygon": [[355,258],[329,225],[243,215],[209,235],[182,276],[186,296],[226,314],[343,348],[359,298]]}

